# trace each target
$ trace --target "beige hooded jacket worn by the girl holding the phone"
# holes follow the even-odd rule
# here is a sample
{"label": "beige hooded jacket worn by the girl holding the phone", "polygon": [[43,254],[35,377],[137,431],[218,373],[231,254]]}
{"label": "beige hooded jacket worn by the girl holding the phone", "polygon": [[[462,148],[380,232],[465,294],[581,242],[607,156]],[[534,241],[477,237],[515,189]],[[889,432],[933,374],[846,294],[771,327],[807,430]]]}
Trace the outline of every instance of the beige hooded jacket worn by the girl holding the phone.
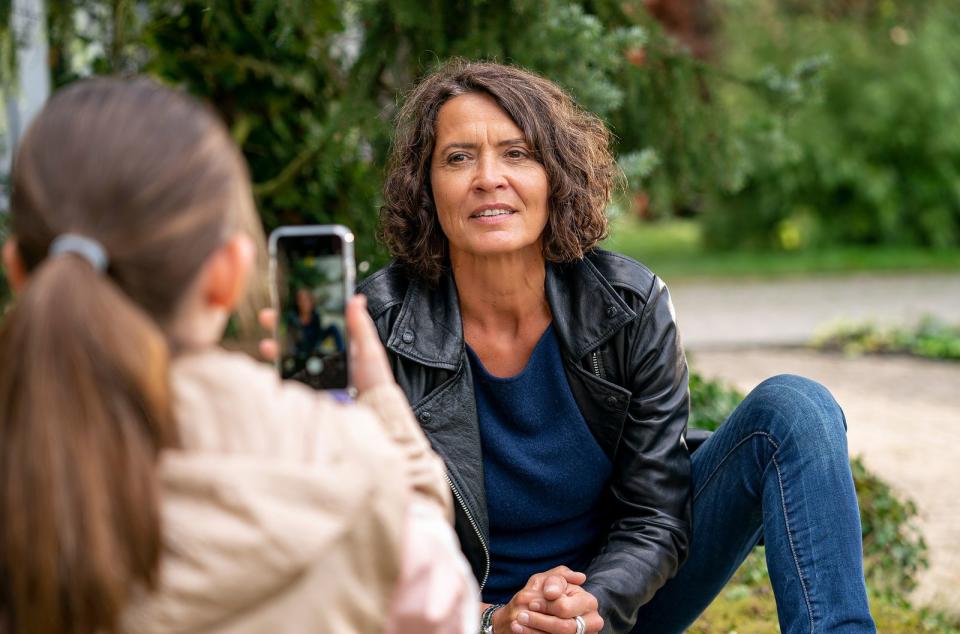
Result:
{"label": "beige hooded jacket worn by the girl holding the phone", "polygon": [[172,376],[183,449],[161,459],[160,587],[126,631],[476,631],[443,463],[398,388],[343,405],[219,349]]}

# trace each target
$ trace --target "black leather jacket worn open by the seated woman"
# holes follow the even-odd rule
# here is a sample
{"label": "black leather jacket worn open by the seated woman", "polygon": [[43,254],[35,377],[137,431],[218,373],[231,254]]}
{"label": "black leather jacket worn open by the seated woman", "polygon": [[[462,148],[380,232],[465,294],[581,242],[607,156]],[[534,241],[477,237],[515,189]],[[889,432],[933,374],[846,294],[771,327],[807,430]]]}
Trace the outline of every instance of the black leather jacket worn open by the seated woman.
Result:
{"label": "black leather jacket worn open by the seated woman", "polygon": [[[546,294],[574,398],[613,473],[609,529],[585,570],[604,632],[629,632],[637,609],[686,558],[691,531],[687,366],[663,282],[600,250],[547,264]],[[456,530],[481,587],[490,571],[480,435],[453,277],[431,287],[392,264],[358,289],[400,387],[447,464]],[[549,503],[548,500],[544,501]]]}

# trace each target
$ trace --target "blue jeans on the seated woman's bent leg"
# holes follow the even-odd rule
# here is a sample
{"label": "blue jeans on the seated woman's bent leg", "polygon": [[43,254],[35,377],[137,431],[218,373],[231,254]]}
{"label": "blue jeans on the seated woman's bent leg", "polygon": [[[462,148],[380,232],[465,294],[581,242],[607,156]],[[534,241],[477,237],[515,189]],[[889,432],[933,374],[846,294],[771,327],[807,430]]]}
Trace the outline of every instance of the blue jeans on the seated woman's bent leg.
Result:
{"label": "blue jeans on the seated woman's bent leg", "polygon": [[690,556],[640,608],[635,634],[682,632],[761,535],[784,634],[876,631],[846,420],[823,386],[764,381],[692,459]]}

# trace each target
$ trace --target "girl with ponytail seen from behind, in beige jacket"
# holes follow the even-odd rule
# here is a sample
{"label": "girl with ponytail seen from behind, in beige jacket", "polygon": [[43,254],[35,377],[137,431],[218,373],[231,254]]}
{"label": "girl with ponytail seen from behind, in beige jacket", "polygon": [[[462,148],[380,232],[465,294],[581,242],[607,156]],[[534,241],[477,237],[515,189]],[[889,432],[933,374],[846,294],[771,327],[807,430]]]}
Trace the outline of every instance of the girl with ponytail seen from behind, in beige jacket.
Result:
{"label": "girl with ponytail seen from behind, in beige jacket", "polygon": [[20,145],[0,326],[0,632],[464,632],[442,463],[348,307],[359,403],[217,342],[262,251],[216,116],[145,80]]}

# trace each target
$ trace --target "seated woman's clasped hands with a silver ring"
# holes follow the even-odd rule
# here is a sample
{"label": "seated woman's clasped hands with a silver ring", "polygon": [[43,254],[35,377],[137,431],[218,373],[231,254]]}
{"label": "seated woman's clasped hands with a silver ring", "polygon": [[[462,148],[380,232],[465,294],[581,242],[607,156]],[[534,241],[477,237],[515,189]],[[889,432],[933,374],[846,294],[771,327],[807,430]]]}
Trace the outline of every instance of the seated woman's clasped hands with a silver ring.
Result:
{"label": "seated woman's clasped hands with a silver ring", "polygon": [[603,629],[597,599],[583,589],[587,576],[566,566],[533,575],[493,614],[494,634],[576,634],[576,617],[587,634]]}

